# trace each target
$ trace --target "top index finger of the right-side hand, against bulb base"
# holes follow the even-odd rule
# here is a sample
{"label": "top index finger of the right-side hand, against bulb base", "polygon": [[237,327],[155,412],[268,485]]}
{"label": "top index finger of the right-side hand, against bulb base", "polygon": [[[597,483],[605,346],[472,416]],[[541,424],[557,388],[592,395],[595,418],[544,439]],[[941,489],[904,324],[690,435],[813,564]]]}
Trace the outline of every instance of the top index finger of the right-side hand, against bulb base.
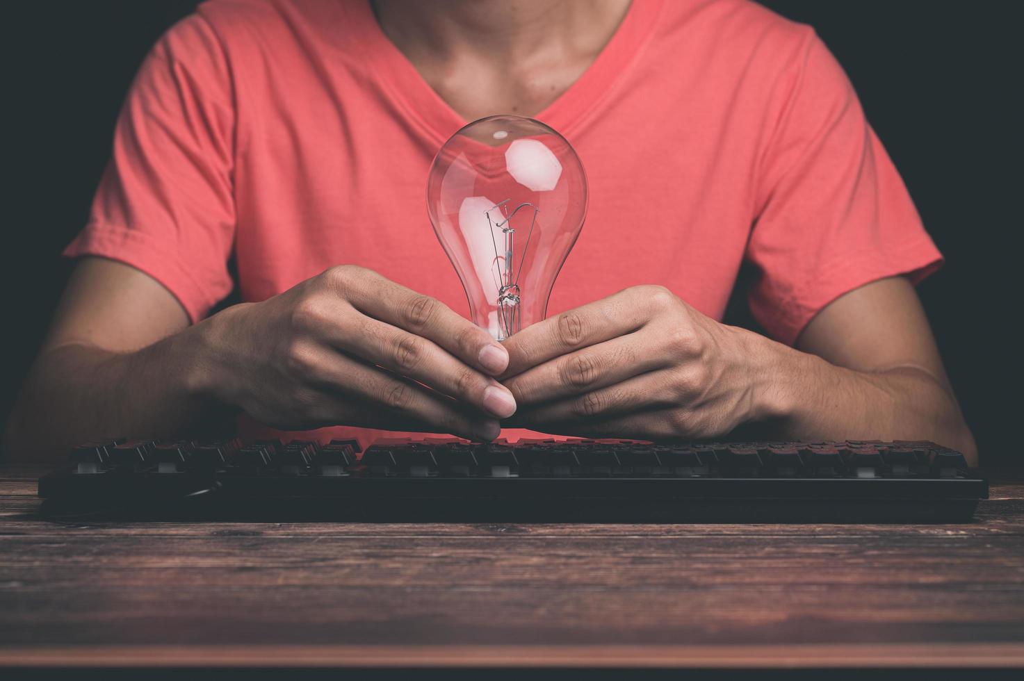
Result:
{"label": "top index finger of the right-side hand, against bulb base", "polygon": [[509,366],[502,376],[515,376],[553,357],[636,331],[647,316],[637,298],[636,289],[626,289],[517,332],[505,341]]}

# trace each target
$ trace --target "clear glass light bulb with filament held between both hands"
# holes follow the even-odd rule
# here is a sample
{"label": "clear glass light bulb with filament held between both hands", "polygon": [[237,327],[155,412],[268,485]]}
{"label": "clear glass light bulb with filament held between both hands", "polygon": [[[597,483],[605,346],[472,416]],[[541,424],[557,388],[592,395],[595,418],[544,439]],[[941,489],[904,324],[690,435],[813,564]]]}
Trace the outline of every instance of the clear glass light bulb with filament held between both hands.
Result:
{"label": "clear glass light bulb with filament held between both hands", "polygon": [[547,314],[555,278],[587,215],[587,176],[552,128],[490,116],[437,152],[427,212],[473,322],[505,340]]}

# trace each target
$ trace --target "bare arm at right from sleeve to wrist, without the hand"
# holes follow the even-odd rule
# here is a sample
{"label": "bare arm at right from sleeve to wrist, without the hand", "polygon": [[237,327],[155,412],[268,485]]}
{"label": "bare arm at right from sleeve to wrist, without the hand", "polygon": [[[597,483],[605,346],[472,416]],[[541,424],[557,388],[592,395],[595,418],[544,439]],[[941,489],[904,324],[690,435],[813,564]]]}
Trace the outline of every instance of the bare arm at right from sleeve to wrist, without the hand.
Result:
{"label": "bare arm at right from sleeve to wrist, without the hand", "polygon": [[840,297],[801,334],[802,351],[758,339],[766,371],[774,367],[766,410],[780,433],[931,439],[977,465],[974,437],[906,280],[882,280]]}

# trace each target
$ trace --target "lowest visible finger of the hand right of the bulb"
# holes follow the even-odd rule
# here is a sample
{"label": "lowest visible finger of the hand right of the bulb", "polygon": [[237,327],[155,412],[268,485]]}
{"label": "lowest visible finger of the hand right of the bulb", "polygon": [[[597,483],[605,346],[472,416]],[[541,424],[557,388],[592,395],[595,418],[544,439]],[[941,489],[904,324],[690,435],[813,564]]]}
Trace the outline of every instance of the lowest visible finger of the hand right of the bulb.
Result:
{"label": "lowest visible finger of the hand right of the bulb", "polygon": [[[678,408],[678,399],[669,384],[669,372],[641,374],[581,395],[521,409],[506,425],[521,427],[526,422],[541,426],[548,423],[589,422],[644,410]],[[542,427],[541,430],[543,429]]]}

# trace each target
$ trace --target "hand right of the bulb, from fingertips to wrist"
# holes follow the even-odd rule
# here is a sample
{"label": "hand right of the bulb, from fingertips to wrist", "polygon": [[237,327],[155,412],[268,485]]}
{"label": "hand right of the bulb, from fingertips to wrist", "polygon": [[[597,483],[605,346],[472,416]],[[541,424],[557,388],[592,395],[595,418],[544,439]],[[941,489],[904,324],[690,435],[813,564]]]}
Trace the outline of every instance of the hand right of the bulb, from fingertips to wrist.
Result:
{"label": "hand right of the bulb, from fingertips to wrist", "polygon": [[[712,437],[764,416],[753,333],[659,286],[637,286],[535,324],[507,341],[506,426],[581,436]],[[765,340],[765,339],[761,339]]]}

